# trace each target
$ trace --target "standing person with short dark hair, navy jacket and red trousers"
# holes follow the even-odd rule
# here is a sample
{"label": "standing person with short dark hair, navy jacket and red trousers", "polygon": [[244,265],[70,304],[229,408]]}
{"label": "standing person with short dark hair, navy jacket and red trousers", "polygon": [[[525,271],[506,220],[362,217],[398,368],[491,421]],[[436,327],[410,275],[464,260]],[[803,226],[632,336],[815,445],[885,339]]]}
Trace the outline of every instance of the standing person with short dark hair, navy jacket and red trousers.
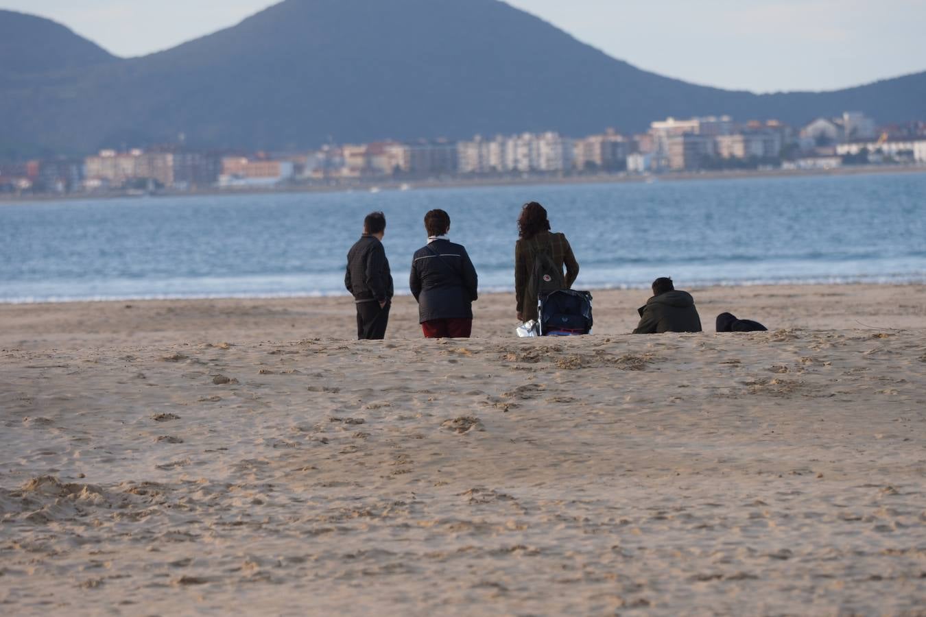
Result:
{"label": "standing person with short dark hair, navy jacket and red trousers", "polygon": [[432,210],[424,216],[428,243],[415,252],[408,286],[418,301],[421,330],[427,339],[469,339],[472,302],[479,279],[469,254],[447,238],[450,216]]}

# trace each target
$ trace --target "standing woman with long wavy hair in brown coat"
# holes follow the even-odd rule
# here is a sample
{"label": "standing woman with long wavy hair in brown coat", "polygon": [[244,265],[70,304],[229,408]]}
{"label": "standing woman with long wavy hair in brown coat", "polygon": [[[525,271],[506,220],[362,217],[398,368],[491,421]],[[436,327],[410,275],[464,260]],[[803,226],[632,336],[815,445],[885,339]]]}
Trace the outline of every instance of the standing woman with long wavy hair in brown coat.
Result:
{"label": "standing woman with long wavy hair in brown coat", "polygon": [[534,271],[534,256],[541,251],[548,253],[560,271],[566,267],[566,276],[563,278],[566,289],[571,289],[572,283],[579,276],[579,262],[572,254],[566,236],[550,232],[550,221],[541,204],[531,202],[524,205],[518,219],[518,231],[520,240],[515,244],[515,295],[518,300],[518,319],[525,322],[537,319],[536,286],[528,285],[528,278]]}

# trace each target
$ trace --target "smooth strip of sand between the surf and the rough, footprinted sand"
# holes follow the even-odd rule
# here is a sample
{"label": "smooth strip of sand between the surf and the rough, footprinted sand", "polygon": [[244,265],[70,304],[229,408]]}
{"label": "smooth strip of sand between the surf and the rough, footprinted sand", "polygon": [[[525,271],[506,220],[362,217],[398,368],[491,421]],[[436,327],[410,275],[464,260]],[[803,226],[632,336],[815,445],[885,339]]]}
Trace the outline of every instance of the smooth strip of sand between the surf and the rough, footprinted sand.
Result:
{"label": "smooth strip of sand between the surf and the rough, footprinted sand", "polygon": [[[926,284],[688,287],[710,333],[720,313],[755,319],[770,330],[923,329]],[[649,290],[594,291],[594,337],[629,334]],[[515,339],[513,292],[472,305],[473,338]],[[307,338],[351,340],[354,303],[346,297],[146,300],[0,304],[0,347],[66,349]],[[418,304],[396,296],[386,339],[421,339]]]}

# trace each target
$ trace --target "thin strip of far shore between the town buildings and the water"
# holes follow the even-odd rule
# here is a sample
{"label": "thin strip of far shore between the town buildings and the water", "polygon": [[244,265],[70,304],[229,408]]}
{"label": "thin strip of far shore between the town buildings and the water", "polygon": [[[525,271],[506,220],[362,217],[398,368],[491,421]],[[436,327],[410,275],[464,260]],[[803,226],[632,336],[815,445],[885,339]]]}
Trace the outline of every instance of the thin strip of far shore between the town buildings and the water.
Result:
{"label": "thin strip of far shore between the town buildings and the water", "polygon": [[[569,177],[529,177],[529,178],[479,178],[479,179],[448,179],[448,180],[413,180],[413,179],[383,179],[377,181],[358,182],[352,185],[339,186],[284,186],[279,188],[259,187],[253,189],[203,189],[195,191],[155,191],[152,193],[136,193],[131,191],[117,191],[106,193],[68,193],[65,195],[39,194],[13,196],[0,194],[0,204],[35,204],[58,201],[94,201],[114,199],[144,199],[160,197],[223,197],[229,195],[273,195],[273,194],[301,194],[301,193],[339,193],[355,191],[403,191],[403,190],[442,190],[465,188],[492,188],[517,186],[544,186],[544,185],[582,185],[582,184],[639,184],[646,182],[678,182],[685,180],[720,180],[720,179],[775,179],[775,178],[820,178],[820,177],[846,177],[846,176],[882,176],[897,174],[926,174],[924,165],[902,166],[851,166],[837,167],[835,169],[770,169],[761,171],[757,169],[706,171],[706,172],[671,172],[664,174],[642,174],[632,176],[623,174],[601,174],[594,176]],[[408,187],[407,189],[403,187]]]}

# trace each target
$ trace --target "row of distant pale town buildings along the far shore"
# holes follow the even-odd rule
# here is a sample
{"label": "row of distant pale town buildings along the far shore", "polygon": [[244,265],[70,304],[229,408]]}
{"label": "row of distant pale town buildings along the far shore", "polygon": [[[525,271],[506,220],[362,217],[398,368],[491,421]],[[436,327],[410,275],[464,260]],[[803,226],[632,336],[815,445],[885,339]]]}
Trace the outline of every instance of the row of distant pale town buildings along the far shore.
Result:
{"label": "row of distant pale town buildings along the far shore", "polygon": [[[182,141],[182,140],[181,140]],[[876,127],[860,112],[795,130],[777,120],[669,117],[642,134],[557,132],[468,141],[327,145],[299,153],[196,151],[182,144],[0,164],[0,193],[197,191],[351,186],[386,180],[671,174],[723,169],[926,166],[926,122]]]}

